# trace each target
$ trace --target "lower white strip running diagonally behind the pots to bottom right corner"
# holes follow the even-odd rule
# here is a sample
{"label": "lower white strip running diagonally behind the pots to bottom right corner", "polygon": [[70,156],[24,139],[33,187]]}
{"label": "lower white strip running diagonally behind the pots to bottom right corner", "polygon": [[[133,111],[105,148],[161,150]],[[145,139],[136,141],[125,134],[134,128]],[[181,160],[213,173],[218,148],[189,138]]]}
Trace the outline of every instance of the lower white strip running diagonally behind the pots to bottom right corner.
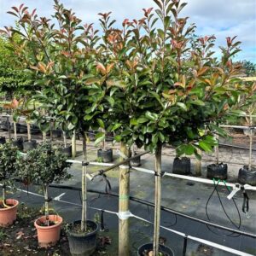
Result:
{"label": "lower white strip running diagonally behind the pots to bottom right corner", "polygon": [[[0,184],[2,185],[2,184]],[[27,194],[30,194],[30,195],[36,195],[36,196],[39,196],[39,197],[43,197],[44,198],[44,195],[39,195],[39,194],[36,194],[36,193],[32,193],[30,191],[26,191],[24,189],[17,189],[21,192],[24,192],[24,193],[27,193]],[[77,206],[77,207],[82,207],[80,204],[76,204],[76,203],[73,203],[73,202],[69,202],[69,201],[62,201],[59,199],[60,196],[57,196],[55,198],[53,198],[53,201],[59,201],[59,202],[62,202],[62,203],[66,203],[66,204],[70,204],[70,205],[73,205],[73,206]],[[96,210],[96,211],[102,211],[103,209],[100,209],[100,208],[96,208],[96,207],[89,207],[90,209],[93,209],[93,210]],[[113,212],[113,211],[108,211],[108,210],[103,210],[104,212],[108,212],[110,214],[114,214],[114,215],[117,215],[118,218],[120,218],[121,216],[121,212]],[[147,222],[149,224],[154,224],[153,222],[149,221],[148,219],[146,218],[141,218],[137,215],[134,215],[133,213],[131,212],[128,212],[128,214],[126,215],[127,218],[130,218],[130,217],[133,217],[133,218],[137,218],[137,219],[140,219],[144,222]],[[168,230],[174,234],[177,234],[178,236],[183,236],[183,237],[187,237],[188,239],[190,240],[193,240],[193,241],[198,241],[198,242],[201,242],[203,244],[207,244],[208,246],[211,246],[211,247],[215,247],[215,248],[218,248],[220,250],[223,250],[225,252],[229,252],[229,253],[234,253],[236,255],[240,255],[240,256],[253,256],[253,254],[249,254],[249,253],[244,253],[244,252],[241,252],[241,251],[238,251],[236,249],[233,249],[233,248],[230,248],[230,247],[225,247],[223,245],[220,245],[218,243],[215,243],[215,242],[212,242],[212,241],[207,241],[207,240],[204,240],[204,239],[201,239],[201,238],[198,238],[198,237],[195,237],[195,236],[187,236],[186,234],[184,234],[183,232],[179,232],[177,230],[172,230],[172,229],[169,229],[169,228],[166,228],[164,226],[160,226],[161,229],[163,230]]]}

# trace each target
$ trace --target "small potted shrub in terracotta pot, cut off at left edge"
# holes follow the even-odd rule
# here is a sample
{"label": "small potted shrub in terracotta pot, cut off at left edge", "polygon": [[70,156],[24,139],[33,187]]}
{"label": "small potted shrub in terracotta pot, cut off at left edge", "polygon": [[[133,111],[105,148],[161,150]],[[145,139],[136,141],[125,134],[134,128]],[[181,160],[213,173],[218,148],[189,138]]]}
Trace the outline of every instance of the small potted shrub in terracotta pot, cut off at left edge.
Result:
{"label": "small potted shrub in terracotta pot, cut off at left edge", "polygon": [[3,197],[0,200],[0,226],[6,227],[14,223],[16,219],[17,207],[19,201],[15,199],[6,199],[6,188],[13,185],[18,168],[17,150],[11,143],[0,145],[0,182],[3,184]]}

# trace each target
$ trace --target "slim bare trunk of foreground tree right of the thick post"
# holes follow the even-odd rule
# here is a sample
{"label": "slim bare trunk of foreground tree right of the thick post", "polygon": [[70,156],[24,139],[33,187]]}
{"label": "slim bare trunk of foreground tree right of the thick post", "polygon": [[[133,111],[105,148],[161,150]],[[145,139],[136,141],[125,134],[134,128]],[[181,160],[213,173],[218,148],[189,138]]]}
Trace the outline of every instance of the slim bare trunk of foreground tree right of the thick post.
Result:
{"label": "slim bare trunk of foreground tree right of the thick post", "polygon": [[161,151],[158,144],[155,150],[155,189],[154,189],[154,256],[158,256],[160,238],[160,207],[161,207]]}

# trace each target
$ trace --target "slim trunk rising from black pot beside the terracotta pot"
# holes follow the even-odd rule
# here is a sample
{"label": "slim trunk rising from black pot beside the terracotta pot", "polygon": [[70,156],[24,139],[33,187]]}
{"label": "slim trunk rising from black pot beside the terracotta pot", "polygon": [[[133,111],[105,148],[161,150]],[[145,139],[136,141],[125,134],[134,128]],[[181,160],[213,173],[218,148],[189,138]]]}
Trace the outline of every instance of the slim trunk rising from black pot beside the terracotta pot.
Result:
{"label": "slim trunk rising from black pot beside the terracotta pot", "polygon": [[[83,162],[84,164],[87,162],[87,152],[86,152],[86,134],[83,132]],[[86,231],[86,218],[87,218],[87,183],[86,183],[86,173],[87,166],[83,165],[82,170],[82,218],[81,218],[81,231]]]}

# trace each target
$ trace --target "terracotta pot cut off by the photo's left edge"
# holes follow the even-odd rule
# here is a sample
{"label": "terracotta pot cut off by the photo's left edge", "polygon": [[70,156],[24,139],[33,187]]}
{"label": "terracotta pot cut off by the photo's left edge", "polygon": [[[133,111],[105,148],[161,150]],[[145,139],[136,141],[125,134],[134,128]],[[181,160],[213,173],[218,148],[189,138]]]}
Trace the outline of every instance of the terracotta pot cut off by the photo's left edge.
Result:
{"label": "terracotta pot cut off by the photo's left edge", "polygon": [[[2,203],[3,201],[0,201],[0,204]],[[7,199],[6,204],[13,207],[0,208],[0,227],[7,227],[13,224],[16,219],[17,207],[19,205],[19,201],[15,199]]]}

